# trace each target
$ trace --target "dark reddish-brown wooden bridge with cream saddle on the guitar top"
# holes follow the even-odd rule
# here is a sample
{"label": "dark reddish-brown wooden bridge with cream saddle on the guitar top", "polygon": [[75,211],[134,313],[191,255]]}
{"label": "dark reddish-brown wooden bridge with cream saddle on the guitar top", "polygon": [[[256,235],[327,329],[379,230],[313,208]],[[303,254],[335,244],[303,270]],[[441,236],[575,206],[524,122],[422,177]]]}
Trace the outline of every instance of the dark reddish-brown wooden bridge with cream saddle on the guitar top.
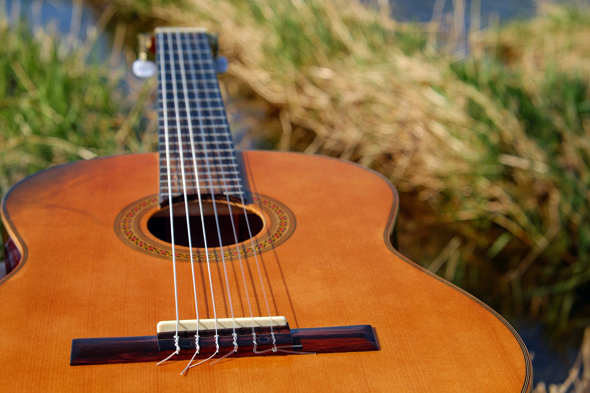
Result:
{"label": "dark reddish-brown wooden bridge with cream saddle on the guitar top", "polygon": [[[330,328],[291,329],[286,318],[273,316],[272,332],[277,347],[293,352],[314,352],[330,354],[335,352],[378,351],[375,332],[371,325],[333,326]],[[254,323],[252,323],[254,322]],[[235,318],[238,351],[230,357],[276,356],[286,352],[267,351],[273,349],[269,318]],[[234,349],[234,332],[231,318],[201,319],[198,323],[199,355],[195,361],[206,359],[215,353],[215,326],[219,335],[219,356]],[[264,325],[267,326],[264,326]],[[188,360],[195,354],[196,320],[180,321],[178,335],[181,351],[174,360]],[[117,364],[137,362],[158,362],[175,352],[174,338],[176,321],[158,323],[155,336],[76,338],[72,340],[70,365]],[[214,361],[214,359],[211,359]]]}

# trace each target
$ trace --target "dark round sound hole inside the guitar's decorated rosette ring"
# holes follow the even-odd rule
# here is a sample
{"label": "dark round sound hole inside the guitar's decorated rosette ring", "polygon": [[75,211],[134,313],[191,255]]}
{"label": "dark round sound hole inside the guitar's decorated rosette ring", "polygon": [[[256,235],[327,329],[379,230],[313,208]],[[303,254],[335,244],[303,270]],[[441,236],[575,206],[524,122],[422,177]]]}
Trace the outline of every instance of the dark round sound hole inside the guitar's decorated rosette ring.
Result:
{"label": "dark round sound hole inside the guitar's decorated rosette ring", "polygon": [[[189,202],[189,223],[191,224],[191,241],[192,246],[204,248],[205,240],[203,239],[203,227],[201,223],[201,213],[198,202]],[[217,207],[217,217],[219,220],[219,233],[221,233],[221,243],[223,246],[235,244],[234,230],[231,225],[230,208],[225,203],[215,203]],[[188,230],[186,227],[186,215],[184,203],[178,203],[172,206],[174,220],[174,243],[177,246],[188,247]],[[263,228],[263,221],[250,210],[246,210],[248,222],[252,235],[257,235]],[[238,243],[250,239],[248,226],[244,216],[244,209],[241,206],[232,206],[231,213],[234,217],[235,232],[238,237]],[[205,235],[207,235],[207,247],[219,247],[219,236],[217,233],[217,224],[212,202],[203,202],[203,215],[205,221]],[[158,210],[152,214],[148,220],[148,230],[153,236],[168,243],[172,243],[170,230],[170,213],[168,207]]]}

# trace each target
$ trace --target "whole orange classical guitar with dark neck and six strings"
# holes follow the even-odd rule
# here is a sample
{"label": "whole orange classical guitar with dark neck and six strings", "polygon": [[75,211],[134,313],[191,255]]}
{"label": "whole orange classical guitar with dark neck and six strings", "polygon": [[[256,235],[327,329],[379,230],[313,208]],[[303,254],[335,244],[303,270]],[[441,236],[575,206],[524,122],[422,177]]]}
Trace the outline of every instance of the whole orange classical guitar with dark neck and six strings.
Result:
{"label": "whole orange classical guitar with dark neck and six strings", "polygon": [[509,323],[392,246],[389,181],[234,149],[211,42],[146,40],[158,153],[5,195],[0,391],[529,392]]}

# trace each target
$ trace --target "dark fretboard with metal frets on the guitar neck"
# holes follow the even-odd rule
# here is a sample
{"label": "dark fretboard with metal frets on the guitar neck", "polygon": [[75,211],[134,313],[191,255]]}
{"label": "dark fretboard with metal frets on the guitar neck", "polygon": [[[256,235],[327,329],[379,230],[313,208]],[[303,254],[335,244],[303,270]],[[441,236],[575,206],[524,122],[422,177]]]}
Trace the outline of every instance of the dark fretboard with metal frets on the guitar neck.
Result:
{"label": "dark fretboard with metal frets on the guitar neck", "polygon": [[156,64],[160,203],[183,195],[182,170],[189,196],[199,189],[202,194],[242,196],[207,32],[156,29]]}

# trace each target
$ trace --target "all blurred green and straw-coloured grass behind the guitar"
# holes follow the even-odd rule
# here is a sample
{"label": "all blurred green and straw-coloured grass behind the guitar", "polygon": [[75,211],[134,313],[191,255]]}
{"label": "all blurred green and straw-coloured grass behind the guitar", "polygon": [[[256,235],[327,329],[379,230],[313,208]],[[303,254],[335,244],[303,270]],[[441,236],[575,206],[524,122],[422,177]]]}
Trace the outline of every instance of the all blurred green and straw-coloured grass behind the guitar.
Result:
{"label": "all blurred green and straw-coloured grass behind the guitar", "polygon": [[155,81],[127,72],[136,34],[201,25],[230,60],[221,85],[238,148],[379,171],[400,191],[404,255],[509,321],[542,321],[579,345],[590,325],[590,8],[539,3],[500,24],[480,20],[477,0],[468,15],[453,5],[401,22],[383,1],[89,0],[97,19],[84,39],[80,1],[65,35],[1,14],[0,189],[70,160],[155,150]]}

